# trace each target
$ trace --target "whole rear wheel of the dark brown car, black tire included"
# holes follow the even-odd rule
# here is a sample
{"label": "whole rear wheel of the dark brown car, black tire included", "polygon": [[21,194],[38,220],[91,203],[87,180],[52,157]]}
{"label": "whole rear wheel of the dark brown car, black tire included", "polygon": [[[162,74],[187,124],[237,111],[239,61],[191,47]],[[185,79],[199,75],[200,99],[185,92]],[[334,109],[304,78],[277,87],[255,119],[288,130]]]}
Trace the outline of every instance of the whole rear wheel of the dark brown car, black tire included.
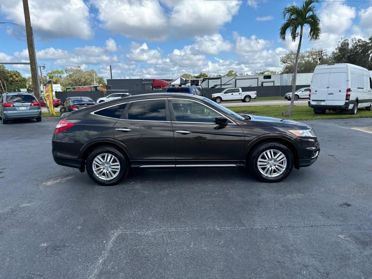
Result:
{"label": "whole rear wheel of the dark brown car, black tire included", "polygon": [[[111,162],[109,160],[109,155],[114,156]],[[106,170],[104,170],[103,173],[100,172],[101,169],[96,170],[96,173],[94,173],[94,170],[93,170],[93,164],[97,169],[97,167],[100,167],[100,164],[102,163],[102,161],[97,158],[98,156],[100,157],[102,156],[101,160],[105,160],[105,158],[107,158],[106,165],[105,166],[102,165],[103,169],[104,167],[107,168]],[[97,164],[97,162],[99,164]],[[114,164],[114,165],[111,165],[111,164]],[[115,169],[118,167],[119,170],[115,171],[113,168],[114,166],[115,166]],[[126,175],[128,174],[129,160],[120,150],[118,150],[115,147],[110,147],[110,146],[97,147],[89,154],[86,160],[86,170],[87,170],[87,173],[90,179],[92,179],[97,184],[103,185],[103,186],[116,185],[122,179],[124,179],[124,177],[126,177]],[[104,175],[106,176],[106,179]],[[110,176],[113,176],[113,178],[110,179]]]}

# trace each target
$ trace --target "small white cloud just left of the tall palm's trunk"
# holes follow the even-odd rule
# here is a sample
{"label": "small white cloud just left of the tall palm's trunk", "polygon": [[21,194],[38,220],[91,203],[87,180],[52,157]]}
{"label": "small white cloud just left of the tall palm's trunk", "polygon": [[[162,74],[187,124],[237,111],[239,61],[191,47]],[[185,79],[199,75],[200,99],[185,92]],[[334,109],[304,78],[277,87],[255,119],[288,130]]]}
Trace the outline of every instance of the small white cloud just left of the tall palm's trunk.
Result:
{"label": "small white cloud just left of the tall palm's trunk", "polygon": [[257,39],[256,35],[250,38],[240,36],[239,33],[233,32],[234,39],[236,40],[236,53],[238,55],[250,55],[253,52],[258,52],[266,47],[270,47],[272,42],[264,39]]}

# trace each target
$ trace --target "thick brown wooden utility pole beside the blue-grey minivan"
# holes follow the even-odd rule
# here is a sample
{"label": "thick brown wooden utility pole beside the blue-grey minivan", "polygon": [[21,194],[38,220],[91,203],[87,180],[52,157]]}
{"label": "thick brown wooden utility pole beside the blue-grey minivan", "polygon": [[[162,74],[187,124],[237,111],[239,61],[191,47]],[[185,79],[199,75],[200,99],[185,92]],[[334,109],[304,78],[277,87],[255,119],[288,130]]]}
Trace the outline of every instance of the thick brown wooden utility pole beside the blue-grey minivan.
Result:
{"label": "thick brown wooden utility pole beside the blue-grey minivan", "polygon": [[30,10],[28,7],[28,0],[22,0],[22,1],[23,1],[23,12],[25,13],[26,38],[27,38],[28,56],[30,59],[33,94],[35,95],[36,99],[40,100],[39,76],[38,76],[38,68],[37,68],[38,64],[36,62],[35,43],[33,41]]}

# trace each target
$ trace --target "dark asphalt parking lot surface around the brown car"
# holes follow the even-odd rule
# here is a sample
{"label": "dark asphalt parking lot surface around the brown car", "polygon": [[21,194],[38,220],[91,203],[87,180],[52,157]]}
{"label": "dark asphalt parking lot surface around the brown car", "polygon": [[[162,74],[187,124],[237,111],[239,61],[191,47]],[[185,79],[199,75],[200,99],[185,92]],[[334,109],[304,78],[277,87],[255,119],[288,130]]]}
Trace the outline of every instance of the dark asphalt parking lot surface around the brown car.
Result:
{"label": "dark asphalt parking lot surface around the brown car", "polygon": [[[276,184],[239,168],[58,166],[58,118],[0,125],[0,278],[371,278],[369,119],[307,121],[321,154]],[[367,132],[365,132],[367,131]]]}

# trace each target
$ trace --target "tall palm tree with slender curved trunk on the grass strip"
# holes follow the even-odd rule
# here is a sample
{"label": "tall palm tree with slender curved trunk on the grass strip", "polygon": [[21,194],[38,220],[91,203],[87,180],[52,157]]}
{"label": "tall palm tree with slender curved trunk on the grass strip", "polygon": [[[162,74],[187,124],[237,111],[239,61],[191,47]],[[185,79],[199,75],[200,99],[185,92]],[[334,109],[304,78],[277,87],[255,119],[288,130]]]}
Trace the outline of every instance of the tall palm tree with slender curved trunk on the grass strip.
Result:
{"label": "tall palm tree with slender curved trunk on the grass strip", "polygon": [[[305,0],[301,6],[290,5],[283,9],[283,20],[285,22],[280,27],[280,39],[285,41],[285,35],[288,30],[291,31],[292,41],[296,41],[296,37],[299,36],[298,48],[295,60],[295,71],[292,79],[292,98],[291,105],[289,106],[288,113],[283,112],[283,116],[292,115],[293,105],[295,100],[296,91],[296,79],[297,79],[297,67],[298,57],[301,50],[302,35],[304,34],[304,26],[307,25],[310,28],[309,39],[310,41],[316,41],[319,39],[321,34],[320,19],[317,15],[317,9],[315,3],[320,3],[319,0]],[[300,33],[297,30],[300,28]]]}

